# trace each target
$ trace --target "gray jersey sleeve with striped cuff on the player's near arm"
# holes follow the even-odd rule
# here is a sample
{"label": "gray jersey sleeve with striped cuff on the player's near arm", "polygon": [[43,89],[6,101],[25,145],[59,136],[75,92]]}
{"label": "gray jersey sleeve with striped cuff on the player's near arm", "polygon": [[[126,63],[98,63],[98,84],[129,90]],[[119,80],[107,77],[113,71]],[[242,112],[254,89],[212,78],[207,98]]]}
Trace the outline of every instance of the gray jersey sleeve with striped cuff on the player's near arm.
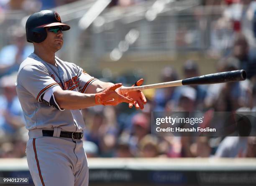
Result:
{"label": "gray jersey sleeve with striped cuff on the player's near arm", "polygon": [[50,88],[59,86],[43,65],[29,64],[23,67],[17,78],[17,85],[26,89],[39,103],[41,96]]}

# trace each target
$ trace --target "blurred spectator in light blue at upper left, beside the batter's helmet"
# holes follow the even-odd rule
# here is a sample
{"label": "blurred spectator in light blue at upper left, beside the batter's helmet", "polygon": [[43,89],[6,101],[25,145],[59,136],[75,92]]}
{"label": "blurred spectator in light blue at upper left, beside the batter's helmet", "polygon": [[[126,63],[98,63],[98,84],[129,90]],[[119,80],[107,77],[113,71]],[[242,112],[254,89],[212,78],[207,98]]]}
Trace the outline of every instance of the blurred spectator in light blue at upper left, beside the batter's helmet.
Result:
{"label": "blurred spectator in light blue at upper left, beside the batter's helmet", "polygon": [[12,26],[10,39],[13,44],[7,45],[0,51],[0,77],[13,72],[18,72],[20,63],[33,52],[33,46],[26,44],[25,29]]}

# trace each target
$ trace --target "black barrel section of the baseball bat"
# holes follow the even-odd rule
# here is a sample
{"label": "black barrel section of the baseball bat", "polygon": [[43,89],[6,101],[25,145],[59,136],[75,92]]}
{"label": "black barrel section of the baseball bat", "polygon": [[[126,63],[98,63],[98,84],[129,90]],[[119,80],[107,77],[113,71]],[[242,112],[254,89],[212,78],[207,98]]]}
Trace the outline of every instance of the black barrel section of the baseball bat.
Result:
{"label": "black barrel section of the baseball bat", "polygon": [[235,71],[220,72],[215,74],[207,74],[203,76],[183,79],[182,85],[215,84],[215,83],[243,81],[245,79],[246,79],[245,70],[235,70]]}

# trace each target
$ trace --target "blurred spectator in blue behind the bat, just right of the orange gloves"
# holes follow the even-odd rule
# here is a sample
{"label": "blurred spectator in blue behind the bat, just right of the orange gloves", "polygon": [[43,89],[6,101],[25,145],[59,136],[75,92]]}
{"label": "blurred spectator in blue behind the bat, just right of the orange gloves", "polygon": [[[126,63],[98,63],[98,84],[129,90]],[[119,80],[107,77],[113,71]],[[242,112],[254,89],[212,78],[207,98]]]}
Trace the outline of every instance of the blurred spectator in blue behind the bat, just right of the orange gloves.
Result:
{"label": "blurred spectator in blue behind the bat, just right of the orange gloves", "polygon": [[[172,67],[165,67],[161,72],[161,82],[171,82],[178,80],[177,72]],[[172,101],[177,104],[177,87],[167,87],[163,89],[156,89],[154,104],[154,111],[164,111],[166,103]],[[175,91],[176,90],[176,91]]]}

